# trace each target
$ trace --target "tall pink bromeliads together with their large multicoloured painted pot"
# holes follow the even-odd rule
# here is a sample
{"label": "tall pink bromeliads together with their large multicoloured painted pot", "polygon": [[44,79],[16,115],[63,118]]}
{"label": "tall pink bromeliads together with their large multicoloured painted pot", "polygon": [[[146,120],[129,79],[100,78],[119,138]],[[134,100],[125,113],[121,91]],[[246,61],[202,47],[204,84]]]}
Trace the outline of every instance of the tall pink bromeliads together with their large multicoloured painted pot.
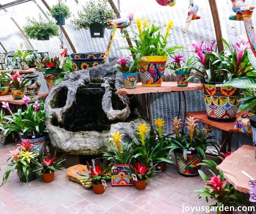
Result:
{"label": "tall pink bromeliads together with their large multicoloured painted pot", "polygon": [[209,120],[216,122],[233,122],[241,99],[240,89],[223,86],[232,78],[244,77],[253,70],[248,59],[249,42],[240,38],[239,43],[231,46],[222,39],[226,49],[218,54],[213,50],[214,42],[197,41],[192,46],[199,58],[200,67],[193,68],[201,80],[206,112]]}

